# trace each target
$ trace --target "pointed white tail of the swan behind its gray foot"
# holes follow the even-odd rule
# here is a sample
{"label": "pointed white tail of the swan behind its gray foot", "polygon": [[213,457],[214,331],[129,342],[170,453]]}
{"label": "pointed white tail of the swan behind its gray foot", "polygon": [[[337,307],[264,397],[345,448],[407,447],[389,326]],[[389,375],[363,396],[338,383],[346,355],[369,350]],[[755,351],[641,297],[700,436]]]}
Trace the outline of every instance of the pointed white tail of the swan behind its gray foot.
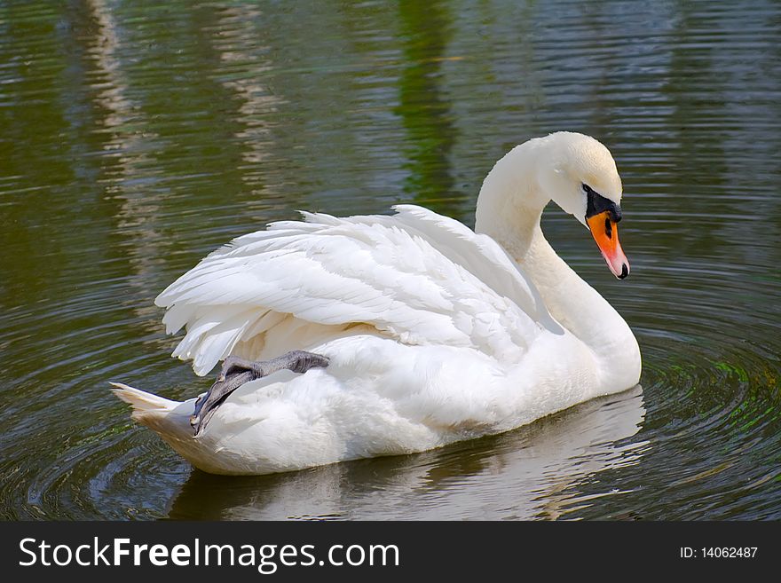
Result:
{"label": "pointed white tail of the swan behind its gray foot", "polygon": [[[122,382],[112,382],[112,392],[117,398],[133,407],[130,418],[167,438],[192,438],[189,414],[193,407],[172,401],[146,390],[138,390]],[[189,413],[188,413],[189,412]]]}

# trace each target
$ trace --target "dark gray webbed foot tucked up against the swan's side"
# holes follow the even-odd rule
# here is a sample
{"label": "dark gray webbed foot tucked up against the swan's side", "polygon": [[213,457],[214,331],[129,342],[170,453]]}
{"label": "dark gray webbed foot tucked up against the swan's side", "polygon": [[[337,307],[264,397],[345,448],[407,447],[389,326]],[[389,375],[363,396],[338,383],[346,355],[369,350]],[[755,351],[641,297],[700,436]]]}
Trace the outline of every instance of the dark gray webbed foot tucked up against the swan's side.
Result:
{"label": "dark gray webbed foot tucked up against the swan's side", "polygon": [[217,381],[205,395],[195,401],[195,410],[190,416],[195,437],[199,437],[206,429],[209,419],[217,408],[225,403],[225,399],[245,382],[286,369],[294,373],[305,373],[310,368],[325,368],[328,363],[327,357],[307,351],[290,351],[277,358],[259,361],[233,356],[225,358],[223,367],[217,374]]}

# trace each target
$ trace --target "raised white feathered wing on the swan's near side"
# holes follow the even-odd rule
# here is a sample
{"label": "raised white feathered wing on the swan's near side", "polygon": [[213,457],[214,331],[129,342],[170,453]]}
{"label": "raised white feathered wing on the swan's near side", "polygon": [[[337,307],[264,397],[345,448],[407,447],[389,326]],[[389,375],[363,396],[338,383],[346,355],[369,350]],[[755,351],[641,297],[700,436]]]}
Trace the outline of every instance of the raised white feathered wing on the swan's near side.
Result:
{"label": "raised white feathered wing on the swan's near side", "polygon": [[[272,223],[201,260],[159,295],[173,356],[207,374],[238,343],[300,325],[367,324],[407,344],[470,347],[516,361],[555,326],[493,240],[411,205],[394,216]],[[549,320],[549,322],[548,322]],[[551,324],[552,323],[552,324]]]}

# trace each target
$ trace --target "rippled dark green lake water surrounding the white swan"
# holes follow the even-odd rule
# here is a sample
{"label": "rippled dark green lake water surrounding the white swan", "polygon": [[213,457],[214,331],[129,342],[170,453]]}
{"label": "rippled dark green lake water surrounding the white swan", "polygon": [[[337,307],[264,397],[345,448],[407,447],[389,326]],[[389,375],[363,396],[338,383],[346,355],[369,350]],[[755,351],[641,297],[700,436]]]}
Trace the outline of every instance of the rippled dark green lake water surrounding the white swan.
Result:
{"label": "rippled dark green lake water surrounding the white swan", "polygon": [[[0,4],[0,517],[781,518],[781,4]],[[108,381],[209,387],[154,296],[296,209],[473,225],[554,130],[624,181],[642,388],[507,434],[268,477],[193,470]]]}

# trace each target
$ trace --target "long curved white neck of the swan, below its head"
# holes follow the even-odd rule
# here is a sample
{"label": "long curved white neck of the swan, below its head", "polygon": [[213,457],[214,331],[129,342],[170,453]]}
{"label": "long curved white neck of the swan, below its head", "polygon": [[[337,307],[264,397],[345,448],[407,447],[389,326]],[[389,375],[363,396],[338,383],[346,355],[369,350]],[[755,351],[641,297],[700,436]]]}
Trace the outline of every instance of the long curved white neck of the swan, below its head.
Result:
{"label": "long curved white neck of the swan, below its head", "polygon": [[485,178],[477,198],[475,231],[496,240],[540,291],[550,314],[600,359],[621,354],[634,340],[627,323],[594,288],[556,255],[540,229],[550,201],[537,178],[544,142],[532,140],[505,155]]}

